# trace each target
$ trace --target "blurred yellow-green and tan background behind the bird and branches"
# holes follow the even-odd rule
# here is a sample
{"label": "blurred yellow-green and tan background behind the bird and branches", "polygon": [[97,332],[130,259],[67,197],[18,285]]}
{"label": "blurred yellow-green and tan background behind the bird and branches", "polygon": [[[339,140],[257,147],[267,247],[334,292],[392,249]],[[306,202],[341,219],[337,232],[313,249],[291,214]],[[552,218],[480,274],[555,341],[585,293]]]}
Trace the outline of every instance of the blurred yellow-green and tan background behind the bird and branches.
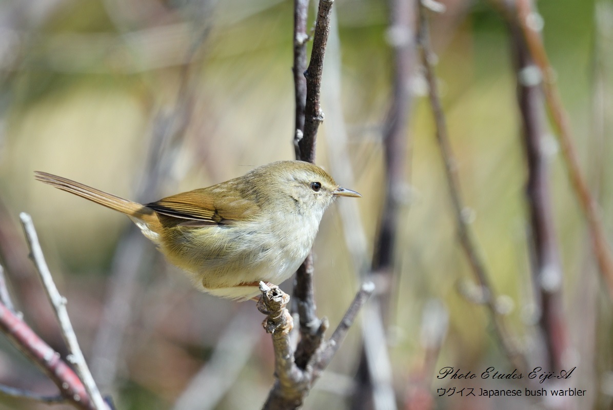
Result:
{"label": "blurred yellow-green and tan background behind the bird and branches", "polygon": [[[432,15],[432,44],[466,217],[511,337],[531,365],[547,368],[538,343],[527,165],[507,25],[490,2],[444,4],[445,13]],[[364,232],[362,251],[370,260],[386,194],[382,135],[394,87],[389,10],[375,0],[337,0],[334,7],[317,162],[363,195],[351,206],[359,208],[353,222]],[[541,0],[538,8],[581,167],[610,232],[613,2]],[[310,21],[313,15],[311,9]],[[273,382],[270,337],[254,303],[191,289],[128,218],[37,183],[33,172],[146,203],[293,159],[292,27],[290,1],[0,2],[0,260],[26,322],[66,354],[27,259],[18,214],[30,213],[94,378],[118,409],[189,408],[181,400],[194,389],[202,397],[198,409],[260,408]],[[554,406],[551,400],[437,393],[455,386],[476,392],[523,387],[435,377],[444,366],[477,374],[489,366],[511,373],[514,366],[485,307],[467,296],[474,279],[455,234],[420,64],[409,89],[404,181],[396,194],[395,279],[383,320],[397,406]],[[556,139],[546,134],[569,340],[563,362],[577,366],[566,387],[587,390],[575,408],[608,409],[611,299]],[[339,151],[352,173],[338,167],[345,161]],[[332,328],[360,284],[342,206],[338,202],[326,213],[314,246],[318,314],[329,317]],[[289,292],[291,286],[287,281],[281,287]],[[357,322],[305,409],[358,408],[352,397],[359,388],[361,346]],[[0,383],[56,392],[3,337]],[[39,408],[46,406],[0,396],[2,410]]]}

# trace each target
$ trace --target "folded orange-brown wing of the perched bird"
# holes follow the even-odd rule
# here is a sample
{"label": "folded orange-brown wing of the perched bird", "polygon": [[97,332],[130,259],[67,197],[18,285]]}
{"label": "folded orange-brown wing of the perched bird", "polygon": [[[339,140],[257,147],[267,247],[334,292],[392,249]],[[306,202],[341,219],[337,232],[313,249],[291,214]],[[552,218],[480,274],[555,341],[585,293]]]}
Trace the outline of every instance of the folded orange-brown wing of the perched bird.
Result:
{"label": "folded orange-brown wing of the perched bird", "polygon": [[154,211],[174,218],[185,219],[183,226],[232,224],[250,219],[259,207],[238,194],[219,194],[210,188],[195,189],[169,196],[146,205]]}

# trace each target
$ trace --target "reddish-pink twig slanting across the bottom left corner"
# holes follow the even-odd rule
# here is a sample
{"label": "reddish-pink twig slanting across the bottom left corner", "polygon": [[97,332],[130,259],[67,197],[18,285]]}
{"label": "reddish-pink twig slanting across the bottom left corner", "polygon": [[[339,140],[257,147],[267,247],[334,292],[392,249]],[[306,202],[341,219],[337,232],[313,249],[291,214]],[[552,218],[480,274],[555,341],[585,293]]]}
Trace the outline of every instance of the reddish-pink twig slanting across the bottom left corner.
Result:
{"label": "reddish-pink twig slanting across the bottom left corner", "polygon": [[58,387],[61,395],[77,408],[93,410],[94,405],[77,374],[42,340],[21,317],[0,303],[0,331],[39,366],[47,377]]}

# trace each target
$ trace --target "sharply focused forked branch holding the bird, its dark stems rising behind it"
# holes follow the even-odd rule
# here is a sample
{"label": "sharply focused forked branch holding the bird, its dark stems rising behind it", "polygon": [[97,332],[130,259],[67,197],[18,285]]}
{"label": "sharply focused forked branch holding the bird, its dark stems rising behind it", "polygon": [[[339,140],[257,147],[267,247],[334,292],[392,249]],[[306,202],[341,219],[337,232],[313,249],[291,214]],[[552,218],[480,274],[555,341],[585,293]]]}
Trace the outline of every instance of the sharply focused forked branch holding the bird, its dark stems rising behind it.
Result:
{"label": "sharply focused forked branch holding the bird, its dark stems rising behind it", "polygon": [[[294,2],[294,86],[296,100],[294,146],[296,159],[302,161],[315,161],[315,142],[319,124],[323,121],[323,113],[320,107],[320,89],[324,53],[330,32],[332,4],[333,0],[319,1],[318,17],[313,36],[313,51],[311,52],[309,67],[304,72],[306,78],[306,81],[304,81],[299,74],[306,63],[306,45],[304,42],[308,39],[306,33],[308,0],[295,0]],[[294,297],[300,318],[300,341],[295,352],[287,331],[287,327],[291,325],[291,316],[285,309],[289,297],[286,298],[287,295],[283,294],[278,287],[270,289],[261,284],[261,290],[262,298],[258,303],[258,308],[268,316],[264,327],[268,333],[272,333],[276,376],[275,385],[270,390],[264,409],[298,408],[311,389],[314,378],[321,373],[338,349],[338,343],[345,336],[346,330],[338,330],[338,334],[335,332],[337,336],[332,344],[322,344],[328,321],[325,318],[319,319],[315,312],[313,256],[311,254],[296,272],[294,283]],[[356,306],[355,311],[350,310],[346,324],[352,323],[357,309],[365,301],[365,298],[364,301],[362,300],[363,297],[357,299],[358,302],[352,304],[352,306]],[[317,376],[314,376],[313,366],[308,366],[308,363],[311,363],[314,357],[320,357],[318,352],[321,346],[332,347],[327,347],[325,350],[327,353],[322,359],[321,368],[318,370]]]}

